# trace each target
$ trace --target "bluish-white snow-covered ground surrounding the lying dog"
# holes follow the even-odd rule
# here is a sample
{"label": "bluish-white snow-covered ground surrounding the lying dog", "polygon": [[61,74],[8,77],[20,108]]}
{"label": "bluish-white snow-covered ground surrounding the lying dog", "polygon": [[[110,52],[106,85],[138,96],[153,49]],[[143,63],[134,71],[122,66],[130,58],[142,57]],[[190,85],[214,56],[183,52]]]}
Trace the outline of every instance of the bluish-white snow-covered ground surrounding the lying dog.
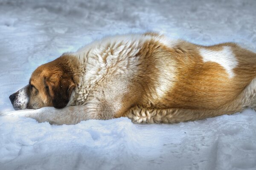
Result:
{"label": "bluish-white snow-covered ground surrounding the lying dog", "polygon": [[[32,71],[110,34],[161,31],[256,51],[255,0],[0,0],[0,111]],[[1,170],[256,170],[256,113],[174,125],[0,116]]]}

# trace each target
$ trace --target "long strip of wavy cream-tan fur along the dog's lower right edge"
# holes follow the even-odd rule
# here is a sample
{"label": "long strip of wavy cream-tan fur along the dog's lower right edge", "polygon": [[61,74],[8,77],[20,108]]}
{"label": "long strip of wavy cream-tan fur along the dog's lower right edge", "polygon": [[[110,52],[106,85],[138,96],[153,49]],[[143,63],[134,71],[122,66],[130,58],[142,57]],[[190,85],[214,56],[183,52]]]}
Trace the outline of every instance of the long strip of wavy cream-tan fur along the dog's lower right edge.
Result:
{"label": "long strip of wavy cream-tan fur along the dog's lower right edge", "polygon": [[241,112],[246,107],[256,110],[256,79],[253,79],[235,99],[214,110],[186,108],[160,109],[135,106],[127,111],[124,116],[131,119],[134,123],[177,123],[233,114]]}

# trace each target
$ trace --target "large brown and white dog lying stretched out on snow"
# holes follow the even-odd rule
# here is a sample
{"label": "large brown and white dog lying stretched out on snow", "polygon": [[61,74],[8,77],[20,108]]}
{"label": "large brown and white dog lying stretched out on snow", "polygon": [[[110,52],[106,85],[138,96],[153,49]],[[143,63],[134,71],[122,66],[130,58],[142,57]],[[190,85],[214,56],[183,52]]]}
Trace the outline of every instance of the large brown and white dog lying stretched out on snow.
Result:
{"label": "large brown and white dog lying stretched out on snow", "polygon": [[128,117],[177,123],[256,108],[256,54],[154,32],[106,37],[39,66],[9,96],[13,114],[51,124]]}

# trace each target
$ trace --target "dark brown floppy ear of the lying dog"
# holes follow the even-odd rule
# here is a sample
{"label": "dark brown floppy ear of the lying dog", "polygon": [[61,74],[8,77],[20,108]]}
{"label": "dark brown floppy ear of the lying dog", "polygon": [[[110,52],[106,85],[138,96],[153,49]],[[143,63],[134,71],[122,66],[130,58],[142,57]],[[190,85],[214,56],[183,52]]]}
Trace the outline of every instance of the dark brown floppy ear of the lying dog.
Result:
{"label": "dark brown floppy ear of the lying dog", "polygon": [[44,81],[47,93],[50,96],[53,107],[64,108],[70,100],[73,89],[76,87],[72,78],[60,78],[58,81]]}

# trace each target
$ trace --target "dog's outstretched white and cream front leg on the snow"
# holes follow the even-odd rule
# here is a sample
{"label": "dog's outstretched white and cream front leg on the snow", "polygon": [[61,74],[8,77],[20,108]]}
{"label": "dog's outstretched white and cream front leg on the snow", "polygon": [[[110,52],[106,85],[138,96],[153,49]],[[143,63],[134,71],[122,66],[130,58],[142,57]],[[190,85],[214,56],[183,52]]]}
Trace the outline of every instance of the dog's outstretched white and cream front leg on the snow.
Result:
{"label": "dog's outstretched white and cream front leg on the snow", "polygon": [[36,119],[38,122],[49,122],[55,125],[74,125],[89,119],[113,119],[111,108],[96,102],[88,102],[84,106],[67,106],[62,109],[45,107],[36,110],[13,111],[3,113],[3,116],[24,116]]}

